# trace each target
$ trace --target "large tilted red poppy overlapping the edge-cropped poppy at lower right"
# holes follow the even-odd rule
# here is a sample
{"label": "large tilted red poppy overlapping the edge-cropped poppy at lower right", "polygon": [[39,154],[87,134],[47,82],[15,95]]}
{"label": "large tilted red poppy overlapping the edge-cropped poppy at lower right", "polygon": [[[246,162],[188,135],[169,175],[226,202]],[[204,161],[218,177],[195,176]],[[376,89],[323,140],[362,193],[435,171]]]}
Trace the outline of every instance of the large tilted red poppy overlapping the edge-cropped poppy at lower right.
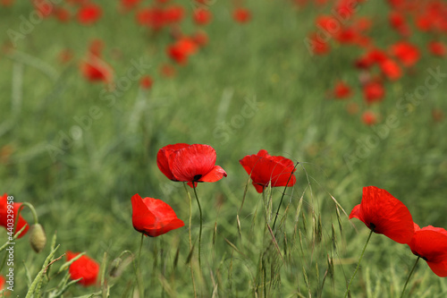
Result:
{"label": "large tilted red poppy overlapping the edge-cropped poppy at lower right", "polygon": [[414,234],[413,218],[400,201],[375,186],[363,188],[362,200],[350,212],[377,234],[384,234],[396,243],[408,244]]}

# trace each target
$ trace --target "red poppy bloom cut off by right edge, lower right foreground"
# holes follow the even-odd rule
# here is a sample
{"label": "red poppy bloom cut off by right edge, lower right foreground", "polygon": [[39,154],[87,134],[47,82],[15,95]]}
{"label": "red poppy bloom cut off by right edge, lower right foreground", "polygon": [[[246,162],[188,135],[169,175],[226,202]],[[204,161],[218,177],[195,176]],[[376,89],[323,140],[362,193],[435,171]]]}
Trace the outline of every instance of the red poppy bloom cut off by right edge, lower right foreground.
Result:
{"label": "red poppy bloom cut off by right edge, lower right foreground", "polygon": [[426,260],[428,267],[438,277],[447,277],[447,231],[441,227],[415,224],[415,234],[409,248],[418,257]]}

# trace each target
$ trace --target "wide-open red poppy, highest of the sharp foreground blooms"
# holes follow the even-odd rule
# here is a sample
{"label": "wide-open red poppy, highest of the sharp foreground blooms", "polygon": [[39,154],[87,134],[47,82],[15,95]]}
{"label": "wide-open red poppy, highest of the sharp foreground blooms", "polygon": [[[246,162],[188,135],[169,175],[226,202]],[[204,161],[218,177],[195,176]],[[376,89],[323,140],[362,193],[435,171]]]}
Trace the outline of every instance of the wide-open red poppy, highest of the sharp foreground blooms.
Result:
{"label": "wide-open red poppy, highest of the sharp foreground blooms", "polygon": [[209,145],[178,143],[159,149],[156,164],[173,181],[213,183],[226,177],[221,166],[215,166],[215,149]]}

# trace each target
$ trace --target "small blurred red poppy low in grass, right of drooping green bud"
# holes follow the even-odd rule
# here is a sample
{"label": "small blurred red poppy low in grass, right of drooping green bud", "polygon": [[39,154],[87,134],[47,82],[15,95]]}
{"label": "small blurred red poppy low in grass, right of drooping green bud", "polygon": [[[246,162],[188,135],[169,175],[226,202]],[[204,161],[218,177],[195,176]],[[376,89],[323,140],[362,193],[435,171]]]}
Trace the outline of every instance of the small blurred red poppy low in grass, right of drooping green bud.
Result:
{"label": "small blurred red poppy low in grass, right of drooping green bud", "polygon": [[[79,252],[67,251],[67,260],[72,260],[78,254]],[[72,280],[82,278],[79,281],[80,285],[95,285],[97,283],[99,264],[88,256],[83,255],[80,259],[72,262],[68,271]]]}

